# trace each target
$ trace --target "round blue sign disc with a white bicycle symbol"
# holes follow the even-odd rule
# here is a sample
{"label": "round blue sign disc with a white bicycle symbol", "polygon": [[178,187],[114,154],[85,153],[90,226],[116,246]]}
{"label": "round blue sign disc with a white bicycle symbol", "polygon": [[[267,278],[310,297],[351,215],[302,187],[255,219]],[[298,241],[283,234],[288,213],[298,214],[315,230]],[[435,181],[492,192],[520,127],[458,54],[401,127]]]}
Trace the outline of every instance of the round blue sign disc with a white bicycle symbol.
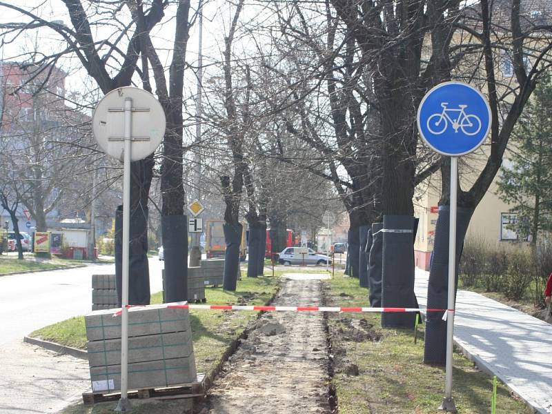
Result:
{"label": "round blue sign disc with a white bicycle symbol", "polygon": [[417,113],[422,139],[442,155],[477,149],[491,130],[491,107],[482,93],[462,82],[444,82],[426,93]]}

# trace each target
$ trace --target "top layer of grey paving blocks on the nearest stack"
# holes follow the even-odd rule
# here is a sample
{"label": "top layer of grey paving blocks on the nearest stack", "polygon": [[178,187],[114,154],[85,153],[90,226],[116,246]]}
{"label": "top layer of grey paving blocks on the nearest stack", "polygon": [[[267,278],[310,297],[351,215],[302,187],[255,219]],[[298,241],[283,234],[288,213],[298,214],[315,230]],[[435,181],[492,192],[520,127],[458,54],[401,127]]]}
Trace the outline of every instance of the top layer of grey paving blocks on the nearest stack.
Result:
{"label": "top layer of grey paving blocks on the nearest stack", "polygon": [[[168,308],[173,304],[135,306],[128,310],[128,336],[155,335],[157,333],[190,331],[186,308]],[[121,316],[113,311],[93,311],[85,316],[86,337],[89,341],[121,337]]]}

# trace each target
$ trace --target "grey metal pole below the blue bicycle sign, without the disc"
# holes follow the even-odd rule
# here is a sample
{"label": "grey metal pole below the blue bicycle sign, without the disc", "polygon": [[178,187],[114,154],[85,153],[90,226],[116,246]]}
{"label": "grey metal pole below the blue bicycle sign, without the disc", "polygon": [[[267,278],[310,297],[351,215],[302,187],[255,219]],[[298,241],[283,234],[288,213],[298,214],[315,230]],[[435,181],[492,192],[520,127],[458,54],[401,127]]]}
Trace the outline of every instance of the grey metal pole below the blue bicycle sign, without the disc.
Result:
{"label": "grey metal pole below the blue bicycle sign, without the disc", "polygon": [[454,332],[454,291],[456,279],[456,209],[458,193],[458,157],[451,157],[451,195],[449,218],[449,300],[446,315],[446,371],[443,409],[456,412],[453,399],[453,332]]}

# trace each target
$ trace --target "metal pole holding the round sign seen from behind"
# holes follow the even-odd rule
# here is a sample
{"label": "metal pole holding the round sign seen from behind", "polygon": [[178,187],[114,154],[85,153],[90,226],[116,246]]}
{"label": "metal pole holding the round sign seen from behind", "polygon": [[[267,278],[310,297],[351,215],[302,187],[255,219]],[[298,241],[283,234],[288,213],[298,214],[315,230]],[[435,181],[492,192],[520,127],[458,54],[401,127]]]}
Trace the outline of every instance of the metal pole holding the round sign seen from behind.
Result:
{"label": "metal pole holding the round sign seen from behind", "polygon": [[131,407],[128,391],[128,253],[130,244],[130,148],[132,137],[132,99],[125,99],[124,166],[123,166],[123,291],[121,298],[121,399],[117,411]]}

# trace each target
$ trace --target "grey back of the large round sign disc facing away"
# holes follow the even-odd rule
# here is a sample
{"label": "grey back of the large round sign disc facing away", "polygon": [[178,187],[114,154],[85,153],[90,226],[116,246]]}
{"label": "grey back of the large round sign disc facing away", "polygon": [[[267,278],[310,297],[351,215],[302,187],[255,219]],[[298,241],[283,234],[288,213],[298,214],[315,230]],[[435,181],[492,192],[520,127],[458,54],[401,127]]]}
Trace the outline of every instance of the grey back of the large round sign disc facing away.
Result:
{"label": "grey back of the large round sign disc facing away", "polygon": [[122,161],[126,99],[132,101],[130,159],[138,161],[154,152],[165,135],[165,112],[150,92],[130,86],[108,92],[92,115],[92,133],[103,152]]}

